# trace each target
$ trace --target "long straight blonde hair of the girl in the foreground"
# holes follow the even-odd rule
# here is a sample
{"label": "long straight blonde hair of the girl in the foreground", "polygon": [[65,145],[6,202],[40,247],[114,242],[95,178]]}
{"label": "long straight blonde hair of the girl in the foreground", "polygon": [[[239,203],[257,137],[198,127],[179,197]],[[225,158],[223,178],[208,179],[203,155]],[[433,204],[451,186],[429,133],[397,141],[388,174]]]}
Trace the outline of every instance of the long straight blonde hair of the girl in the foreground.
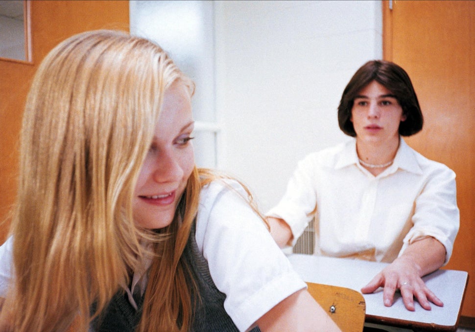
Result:
{"label": "long straight blonde hair of the girl in the foreground", "polygon": [[192,94],[158,45],[117,31],[75,35],[40,65],[21,133],[14,283],[1,313],[10,331],[66,331],[75,319],[87,331],[148,254],[144,238],[155,241],[155,256],[138,330],[188,330],[193,287],[180,258],[198,170],[165,235],[138,228],[131,203],[164,91],[176,80]]}

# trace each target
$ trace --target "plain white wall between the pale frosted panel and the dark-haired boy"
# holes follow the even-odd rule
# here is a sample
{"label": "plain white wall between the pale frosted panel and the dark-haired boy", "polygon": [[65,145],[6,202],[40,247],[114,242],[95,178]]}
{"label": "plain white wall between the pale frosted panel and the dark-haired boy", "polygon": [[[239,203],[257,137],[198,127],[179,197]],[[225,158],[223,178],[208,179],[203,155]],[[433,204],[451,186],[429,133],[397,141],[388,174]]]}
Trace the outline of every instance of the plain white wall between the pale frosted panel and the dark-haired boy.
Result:
{"label": "plain white wall between the pale frosted panel and the dark-haired boy", "polygon": [[381,2],[214,1],[214,22],[218,168],[265,211],[298,160],[348,139],[336,109],[356,69],[382,57]]}

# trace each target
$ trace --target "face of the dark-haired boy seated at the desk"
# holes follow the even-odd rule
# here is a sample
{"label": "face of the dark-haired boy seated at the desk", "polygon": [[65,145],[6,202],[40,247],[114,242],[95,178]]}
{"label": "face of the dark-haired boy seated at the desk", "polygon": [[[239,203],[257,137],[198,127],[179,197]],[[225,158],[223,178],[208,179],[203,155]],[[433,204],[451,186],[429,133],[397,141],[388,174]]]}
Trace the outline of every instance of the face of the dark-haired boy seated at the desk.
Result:
{"label": "face of the dark-haired boy seated at the desk", "polygon": [[359,91],[351,110],[351,122],[359,141],[399,140],[399,125],[405,119],[396,97],[376,81]]}

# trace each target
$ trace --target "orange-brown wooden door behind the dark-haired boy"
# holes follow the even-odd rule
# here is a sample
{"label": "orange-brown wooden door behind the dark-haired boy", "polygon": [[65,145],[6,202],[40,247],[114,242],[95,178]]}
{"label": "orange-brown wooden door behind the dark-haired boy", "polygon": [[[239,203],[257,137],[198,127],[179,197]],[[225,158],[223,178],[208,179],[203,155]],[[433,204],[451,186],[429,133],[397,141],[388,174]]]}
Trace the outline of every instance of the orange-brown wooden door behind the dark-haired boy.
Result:
{"label": "orange-brown wooden door behind the dark-haired boy", "polygon": [[460,231],[447,268],[469,272],[462,315],[475,317],[475,1],[391,2],[384,59],[408,72],[425,120],[406,142],[456,173]]}

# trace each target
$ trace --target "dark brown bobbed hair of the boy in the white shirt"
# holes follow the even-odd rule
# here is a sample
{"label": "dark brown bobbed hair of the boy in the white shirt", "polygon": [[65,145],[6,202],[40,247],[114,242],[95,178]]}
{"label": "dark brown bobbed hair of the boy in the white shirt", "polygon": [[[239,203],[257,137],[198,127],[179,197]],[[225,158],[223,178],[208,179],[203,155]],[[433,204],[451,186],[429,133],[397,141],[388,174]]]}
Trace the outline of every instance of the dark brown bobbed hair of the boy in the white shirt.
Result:
{"label": "dark brown bobbed hair of the boy in the white shirt", "polygon": [[351,122],[353,102],[359,91],[373,81],[391,91],[403,109],[406,120],[400,123],[399,134],[410,136],[420,132],[424,118],[409,75],[401,66],[393,62],[372,60],[356,70],[356,73],[343,90],[338,106],[338,125],[343,133],[356,137],[355,128]]}

